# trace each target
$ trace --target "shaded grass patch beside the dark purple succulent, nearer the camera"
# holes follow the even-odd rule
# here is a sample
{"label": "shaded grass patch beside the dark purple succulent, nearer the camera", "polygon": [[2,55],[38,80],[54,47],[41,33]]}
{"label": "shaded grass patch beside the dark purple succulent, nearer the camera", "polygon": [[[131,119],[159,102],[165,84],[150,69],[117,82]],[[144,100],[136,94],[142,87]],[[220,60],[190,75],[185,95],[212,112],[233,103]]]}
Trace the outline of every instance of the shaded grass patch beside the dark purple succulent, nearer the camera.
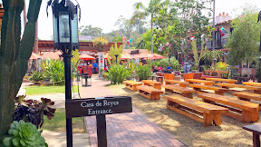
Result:
{"label": "shaded grass patch beside the dark purple succulent, nearer the camera", "polygon": [[[52,120],[44,115],[44,122],[40,130],[48,130],[53,132],[66,132],[66,119],[65,119],[65,109],[57,108],[54,113]],[[84,133],[83,122],[81,117],[73,118],[73,133]]]}

